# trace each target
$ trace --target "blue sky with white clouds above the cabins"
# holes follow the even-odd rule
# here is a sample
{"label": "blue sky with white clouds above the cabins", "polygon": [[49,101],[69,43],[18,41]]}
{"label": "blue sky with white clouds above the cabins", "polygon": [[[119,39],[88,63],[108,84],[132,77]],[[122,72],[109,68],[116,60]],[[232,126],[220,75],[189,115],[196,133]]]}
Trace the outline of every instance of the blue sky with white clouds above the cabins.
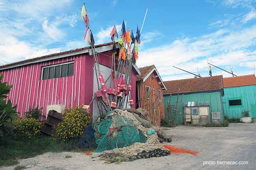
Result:
{"label": "blue sky with white clouds above the cabins", "polygon": [[[156,65],[162,79],[192,78],[172,66],[208,76],[208,65],[254,73],[256,0],[0,0],[0,65],[88,46],[80,21],[85,2],[97,44],[121,22],[142,25],[137,65]],[[230,76],[212,68],[213,75]]]}

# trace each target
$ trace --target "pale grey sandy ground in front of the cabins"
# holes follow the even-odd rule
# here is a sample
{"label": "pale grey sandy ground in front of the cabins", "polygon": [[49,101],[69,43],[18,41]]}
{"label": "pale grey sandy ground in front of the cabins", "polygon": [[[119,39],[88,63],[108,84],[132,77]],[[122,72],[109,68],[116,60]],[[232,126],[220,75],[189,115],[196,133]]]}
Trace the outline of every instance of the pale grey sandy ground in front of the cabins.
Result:
{"label": "pale grey sandy ground in front of the cabins", "polygon": [[[170,170],[170,169],[256,169],[256,124],[235,123],[227,128],[178,126],[166,128],[173,141],[168,144],[199,151],[197,156],[171,154],[170,156],[123,162],[121,165],[104,164],[81,153],[46,153],[19,160],[27,170]],[[65,158],[66,155],[72,156]],[[215,165],[204,165],[213,161]],[[217,165],[217,161],[248,161],[248,165]],[[16,166],[16,165],[15,165]],[[15,166],[2,167],[12,170]]]}

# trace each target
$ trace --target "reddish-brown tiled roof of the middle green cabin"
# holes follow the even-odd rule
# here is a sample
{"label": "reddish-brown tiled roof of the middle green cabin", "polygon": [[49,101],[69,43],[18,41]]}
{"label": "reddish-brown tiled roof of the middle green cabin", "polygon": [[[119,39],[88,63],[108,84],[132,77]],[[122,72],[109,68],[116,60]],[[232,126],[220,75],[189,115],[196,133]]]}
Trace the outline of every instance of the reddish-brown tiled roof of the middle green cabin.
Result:
{"label": "reddish-brown tiled roof of the middle green cabin", "polygon": [[[199,77],[193,79],[182,79],[164,82],[167,90],[164,95],[177,93],[194,93],[203,91],[218,91],[223,88],[223,77]],[[180,91],[179,91],[180,89]]]}

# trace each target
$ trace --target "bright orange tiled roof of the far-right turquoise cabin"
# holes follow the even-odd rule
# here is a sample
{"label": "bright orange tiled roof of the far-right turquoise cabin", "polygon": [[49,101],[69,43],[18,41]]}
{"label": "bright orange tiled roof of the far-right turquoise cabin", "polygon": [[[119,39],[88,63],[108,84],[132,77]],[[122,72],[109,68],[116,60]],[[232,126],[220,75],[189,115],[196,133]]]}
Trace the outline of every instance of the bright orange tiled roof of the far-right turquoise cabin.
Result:
{"label": "bright orange tiled roof of the far-right turquoise cabin", "polygon": [[224,87],[250,86],[256,85],[256,78],[254,75],[244,75],[237,77],[223,78]]}

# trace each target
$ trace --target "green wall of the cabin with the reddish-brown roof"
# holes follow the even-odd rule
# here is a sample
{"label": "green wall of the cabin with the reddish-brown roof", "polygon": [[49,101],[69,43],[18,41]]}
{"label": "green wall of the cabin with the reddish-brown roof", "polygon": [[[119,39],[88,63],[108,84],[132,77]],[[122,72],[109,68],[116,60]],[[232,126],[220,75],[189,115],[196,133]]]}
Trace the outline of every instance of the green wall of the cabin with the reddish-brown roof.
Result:
{"label": "green wall of the cabin with the reddish-brown roof", "polygon": [[[178,95],[171,96],[171,105],[176,105]],[[170,100],[170,95],[164,95],[164,108],[167,116],[171,116],[171,111],[168,112],[168,102]],[[222,109],[222,98],[220,91],[216,92],[205,92],[205,93],[191,93],[179,95],[178,98],[178,113],[175,116],[176,125],[184,124],[184,110],[183,105],[186,102],[209,102],[210,104],[210,120],[211,112],[220,112],[221,122],[223,122],[223,109]]]}

